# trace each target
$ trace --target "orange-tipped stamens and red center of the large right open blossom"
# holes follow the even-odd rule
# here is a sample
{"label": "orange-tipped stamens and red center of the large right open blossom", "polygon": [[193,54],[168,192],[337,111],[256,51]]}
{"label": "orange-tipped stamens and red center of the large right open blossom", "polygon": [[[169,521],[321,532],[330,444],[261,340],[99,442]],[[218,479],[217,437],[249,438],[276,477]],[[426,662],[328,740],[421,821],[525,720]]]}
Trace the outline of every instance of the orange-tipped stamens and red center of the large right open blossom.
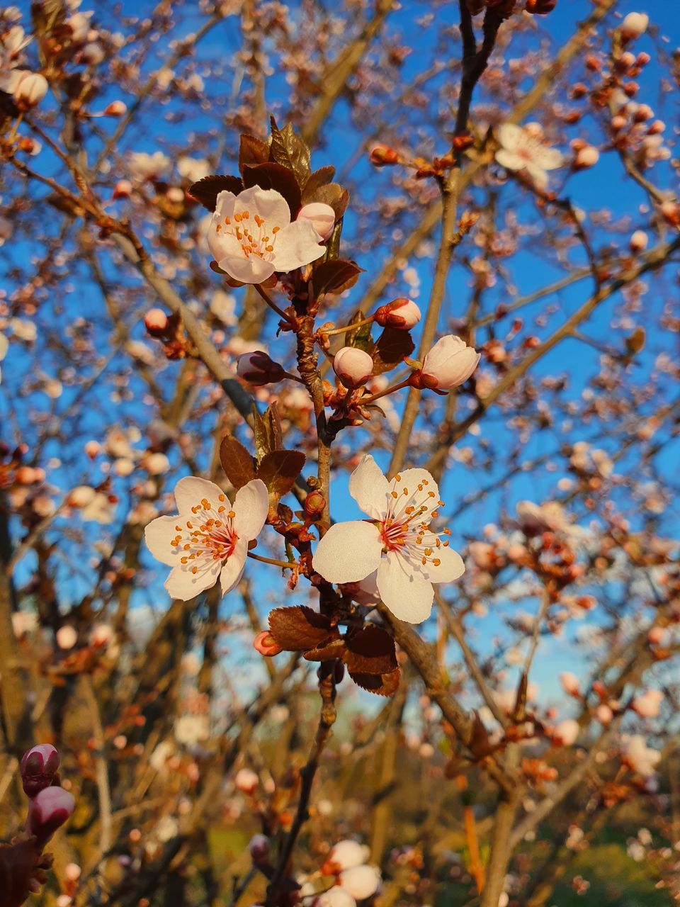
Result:
{"label": "orange-tipped stamens and red center of the large right open blossom", "polygon": [[437,495],[428,491],[428,484],[429,481],[423,479],[411,492],[402,485],[402,477],[397,473],[392,480],[392,501],[378,529],[385,554],[398,551],[409,561],[420,561],[423,567],[427,564],[439,567],[442,561],[437,557],[438,549],[449,544],[449,540],[442,541],[440,535],[451,535],[451,530],[432,532],[430,529],[430,521],[438,515],[435,507],[442,507],[443,501],[438,501]]}

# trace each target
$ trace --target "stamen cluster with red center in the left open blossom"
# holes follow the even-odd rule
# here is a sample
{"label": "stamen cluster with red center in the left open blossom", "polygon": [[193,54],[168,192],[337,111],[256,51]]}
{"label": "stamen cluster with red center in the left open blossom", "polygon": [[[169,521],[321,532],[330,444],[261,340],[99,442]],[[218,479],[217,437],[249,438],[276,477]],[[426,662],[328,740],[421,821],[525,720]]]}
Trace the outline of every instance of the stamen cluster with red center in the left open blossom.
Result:
{"label": "stamen cluster with red center in the left open blossom", "polygon": [[219,505],[215,509],[207,498],[194,504],[191,512],[193,520],[187,520],[182,525],[175,526],[175,536],[170,544],[178,551],[185,553],[180,558],[180,563],[189,567],[192,573],[198,573],[197,561],[227,561],[233,554],[238,541],[234,532],[234,511],[228,511],[225,504],[227,497],[219,495]]}

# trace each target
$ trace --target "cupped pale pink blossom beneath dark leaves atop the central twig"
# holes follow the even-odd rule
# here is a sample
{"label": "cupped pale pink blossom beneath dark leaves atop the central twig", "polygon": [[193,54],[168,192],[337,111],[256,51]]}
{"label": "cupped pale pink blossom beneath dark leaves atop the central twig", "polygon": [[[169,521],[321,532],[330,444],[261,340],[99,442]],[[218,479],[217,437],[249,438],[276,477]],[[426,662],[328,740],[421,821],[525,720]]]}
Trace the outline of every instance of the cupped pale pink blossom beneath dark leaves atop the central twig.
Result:
{"label": "cupped pale pink blossom beneath dark leaves atop the central twig", "polygon": [[308,265],[325,247],[311,220],[290,222],[284,197],[252,186],[234,195],[222,191],[210,220],[208,245],[219,268],[241,283],[262,283],[275,271]]}

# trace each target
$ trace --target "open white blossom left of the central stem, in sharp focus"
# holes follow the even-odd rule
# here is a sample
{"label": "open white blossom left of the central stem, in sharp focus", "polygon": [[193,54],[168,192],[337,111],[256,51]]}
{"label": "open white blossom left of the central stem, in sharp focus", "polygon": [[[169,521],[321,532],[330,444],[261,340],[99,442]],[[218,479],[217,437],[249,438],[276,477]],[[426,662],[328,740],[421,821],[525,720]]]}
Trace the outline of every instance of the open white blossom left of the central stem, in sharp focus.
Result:
{"label": "open white blossom left of the central stem, in sharp focus", "polygon": [[267,520],[267,485],[253,479],[234,503],[218,485],[188,476],[175,486],[177,516],[160,516],[146,527],[151,554],[172,568],[165,588],[173,599],[188,601],[218,581],[222,595],[243,576],[248,541]]}

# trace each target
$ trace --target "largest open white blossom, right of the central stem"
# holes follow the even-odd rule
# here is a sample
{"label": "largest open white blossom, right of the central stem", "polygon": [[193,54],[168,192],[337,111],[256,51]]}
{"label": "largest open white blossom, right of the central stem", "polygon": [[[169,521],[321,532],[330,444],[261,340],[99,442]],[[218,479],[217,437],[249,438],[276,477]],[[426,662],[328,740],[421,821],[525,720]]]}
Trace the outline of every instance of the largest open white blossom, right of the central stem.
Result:
{"label": "largest open white blossom, right of the central stem", "polygon": [[432,610],[432,583],[452,582],[465,570],[445,538],[450,531],[430,529],[442,506],[437,483],[424,469],[404,470],[389,482],[369,454],[352,473],[349,493],[370,520],[331,526],[316,546],[314,569],[339,583],[374,574],[393,615],[421,623]]}

